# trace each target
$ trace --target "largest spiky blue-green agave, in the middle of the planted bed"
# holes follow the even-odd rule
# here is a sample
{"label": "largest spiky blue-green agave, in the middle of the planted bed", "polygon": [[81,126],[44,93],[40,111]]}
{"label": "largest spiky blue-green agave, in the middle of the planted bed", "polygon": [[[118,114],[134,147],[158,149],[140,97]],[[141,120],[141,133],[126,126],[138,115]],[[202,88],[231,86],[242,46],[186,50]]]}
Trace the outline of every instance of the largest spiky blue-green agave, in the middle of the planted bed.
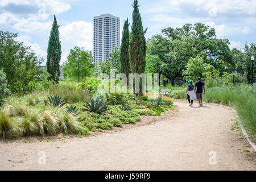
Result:
{"label": "largest spiky blue-green agave, in the middle of the planted bed", "polygon": [[103,99],[99,97],[90,98],[90,102],[85,101],[83,106],[85,108],[82,108],[82,110],[89,111],[90,113],[103,113],[104,111],[110,110],[108,104],[104,103]]}

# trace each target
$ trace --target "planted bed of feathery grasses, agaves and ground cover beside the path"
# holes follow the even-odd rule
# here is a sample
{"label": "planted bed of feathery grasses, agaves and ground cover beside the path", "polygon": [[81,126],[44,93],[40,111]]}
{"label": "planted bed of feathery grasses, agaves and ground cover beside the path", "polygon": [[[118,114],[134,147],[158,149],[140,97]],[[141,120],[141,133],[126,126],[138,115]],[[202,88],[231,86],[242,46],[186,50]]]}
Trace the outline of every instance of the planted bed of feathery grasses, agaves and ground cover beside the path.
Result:
{"label": "planted bed of feathery grasses, agaves and ground cover beside the path", "polygon": [[60,133],[89,135],[94,131],[134,124],[141,120],[141,115],[158,116],[172,109],[168,97],[166,100],[162,97],[150,100],[146,94],[141,97],[101,94],[89,92],[72,81],[60,81],[57,85],[48,85],[45,81],[39,84],[38,91],[13,94],[3,102],[0,137],[46,137]]}

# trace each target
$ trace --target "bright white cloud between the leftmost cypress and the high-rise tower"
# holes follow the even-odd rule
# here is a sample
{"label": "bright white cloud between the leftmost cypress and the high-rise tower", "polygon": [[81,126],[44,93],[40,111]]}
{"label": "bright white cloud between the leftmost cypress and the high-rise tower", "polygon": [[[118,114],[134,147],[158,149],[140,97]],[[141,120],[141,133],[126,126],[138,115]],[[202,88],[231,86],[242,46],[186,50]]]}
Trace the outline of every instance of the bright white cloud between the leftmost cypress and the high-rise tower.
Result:
{"label": "bright white cloud between the leftmost cypress and the high-rise tower", "polygon": [[85,50],[93,49],[93,23],[76,21],[60,27],[61,40],[70,41]]}

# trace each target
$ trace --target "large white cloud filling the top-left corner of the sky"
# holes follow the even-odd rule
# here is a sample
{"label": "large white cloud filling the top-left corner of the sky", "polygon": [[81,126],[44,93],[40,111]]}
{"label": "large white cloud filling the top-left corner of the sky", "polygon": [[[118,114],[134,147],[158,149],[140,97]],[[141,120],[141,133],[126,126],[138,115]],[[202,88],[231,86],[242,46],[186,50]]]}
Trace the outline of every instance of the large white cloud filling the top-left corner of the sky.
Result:
{"label": "large white cloud filling the top-left corner of the sky", "polygon": [[[7,5],[16,5],[22,9],[21,5],[31,6],[36,11],[37,14],[31,14],[27,12],[28,18],[23,18],[24,16],[20,14],[15,14],[15,12],[10,13],[5,9]],[[12,26],[15,30],[30,32],[38,34],[38,32],[49,32],[51,31],[51,21],[46,21],[49,14],[60,14],[68,11],[71,5],[65,3],[65,1],[60,0],[1,0],[0,9],[4,13],[0,14],[0,24],[5,24],[5,26]],[[35,11],[35,12],[36,12]]]}

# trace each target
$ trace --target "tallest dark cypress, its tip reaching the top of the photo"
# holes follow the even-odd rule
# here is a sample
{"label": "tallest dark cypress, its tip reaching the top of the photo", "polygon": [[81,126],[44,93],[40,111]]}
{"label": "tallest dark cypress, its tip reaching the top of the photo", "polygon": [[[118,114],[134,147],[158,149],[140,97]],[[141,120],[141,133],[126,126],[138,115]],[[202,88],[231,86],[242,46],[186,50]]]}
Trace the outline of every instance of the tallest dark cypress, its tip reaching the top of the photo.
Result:
{"label": "tallest dark cypress, its tip reaching the top of the photo", "polygon": [[131,73],[144,73],[146,67],[146,40],[143,31],[141,14],[139,13],[138,1],[134,0],[133,3],[133,25],[131,26],[130,35],[130,68]]}

